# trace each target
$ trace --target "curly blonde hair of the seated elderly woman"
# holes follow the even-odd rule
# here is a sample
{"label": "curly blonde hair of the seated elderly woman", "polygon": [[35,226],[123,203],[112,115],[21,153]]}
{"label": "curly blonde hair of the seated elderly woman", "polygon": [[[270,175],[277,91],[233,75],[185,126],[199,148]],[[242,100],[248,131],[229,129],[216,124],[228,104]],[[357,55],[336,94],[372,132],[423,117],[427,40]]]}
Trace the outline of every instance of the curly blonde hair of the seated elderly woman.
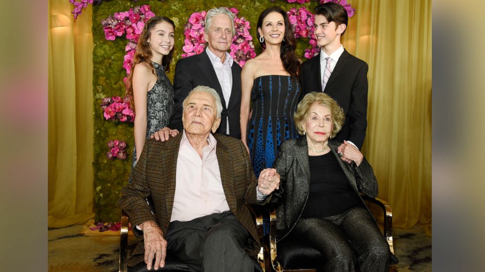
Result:
{"label": "curly blonde hair of the seated elderly woman", "polygon": [[345,122],[344,110],[337,104],[337,101],[335,101],[329,95],[321,92],[311,92],[303,97],[303,99],[298,103],[296,112],[293,115],[293,120],[295,121],[298,134],[303,135],[303,124],[309,117],[309,110],[311,105],[314,103],[318,103],[319,105],[329,109],[333,122],[332,135],[330,138],[335,137],[342,129],[342,125]]}

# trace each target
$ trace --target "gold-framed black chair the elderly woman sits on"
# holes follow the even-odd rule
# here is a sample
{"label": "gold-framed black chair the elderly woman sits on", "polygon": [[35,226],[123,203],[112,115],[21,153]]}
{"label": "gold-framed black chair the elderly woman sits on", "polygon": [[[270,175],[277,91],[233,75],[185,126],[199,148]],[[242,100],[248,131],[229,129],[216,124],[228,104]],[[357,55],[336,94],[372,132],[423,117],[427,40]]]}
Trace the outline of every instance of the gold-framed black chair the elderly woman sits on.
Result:
{"label": "gold-framed black chair the elderly woman sits on", "polygon": [[[392,253],[391,256],[391,263],[389,266],[390,272],[397,272],[397,258],[394,256],[394,245],[393,245],[393,236],[392,236],[392,210],[389,204],[387,204],[384,200],[378,198],[370,198],[367,196],[362,195],[362,198],[367,201],[368,206],[369,204],[375,204],[377,207],[382,209],[384,214],[384,222],[383,222],[383,235],[386,238],[389,249]],[[264,272],[283,272],[283,271],[298,271],[298,272],[317,272],[322,271],[319,268],[319,264],[321,264],[321,259],[323,256],[318,253],[315,249],[309,248],[308,246],[302,245],[295,245],[292,244],[290,247],[285,247],[286,252],[291,252],[291,250],[295,250],[295,248],[300,247],[298,250],[304,251],[304,255],[298,256],[298,253],[295,254],[296,257],[293,259],[298,259],[298,264],[291,263],[291,265],[286,264],[287,268],[285,268],[284,264],[280,263],[277,254],[277,243],[276,243],[276,210],[264,210],[260,209],[257,212],[256,216],[256,224],[258,226],[258,232],[261,231],[261,244],[262,249],[261,252],[258,254],[258,262],[263,267]],[[260,234],[260,233],[258,233]],[[284,241],[284,240],[283,240]],[[282,246],[280,244],[280,246]],[[293,247],[295,246],[295,247]],[[281,251],[282,249],[280,249]],[[301,253],[301,251],[299,252]],[[298,268],[296,268],[298,267]]]}

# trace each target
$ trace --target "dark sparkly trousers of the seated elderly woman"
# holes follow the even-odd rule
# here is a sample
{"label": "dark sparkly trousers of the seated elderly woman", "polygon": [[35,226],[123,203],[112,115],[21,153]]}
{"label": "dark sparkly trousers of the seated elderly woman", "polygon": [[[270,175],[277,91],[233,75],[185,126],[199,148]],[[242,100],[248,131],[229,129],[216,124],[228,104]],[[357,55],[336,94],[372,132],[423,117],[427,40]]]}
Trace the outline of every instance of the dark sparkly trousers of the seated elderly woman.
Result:
{"label": "dark sparkly trousers of the seated elderly woman", "polygon": [[300,219],[292,236],[304,240],[326,257],[325,271],[389,270],[389,245],[364,208],[354,207],[323,219]]}

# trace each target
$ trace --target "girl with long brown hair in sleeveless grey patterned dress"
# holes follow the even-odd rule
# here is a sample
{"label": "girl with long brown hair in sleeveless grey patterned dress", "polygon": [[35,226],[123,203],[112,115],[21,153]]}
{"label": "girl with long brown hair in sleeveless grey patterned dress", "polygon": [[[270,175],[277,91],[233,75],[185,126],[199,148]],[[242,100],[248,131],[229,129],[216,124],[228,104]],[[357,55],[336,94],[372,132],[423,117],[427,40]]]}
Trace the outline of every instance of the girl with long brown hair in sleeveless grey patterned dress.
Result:
{"label": "girl with long brown hair in sleeveless grey patterned dress", "polygon": [[[175,23],[169,18],[149,19],[138,40],[131,73],[126,81],[127,94],[132,97],[134,119],[134,167],[145,140],[165,128],[174,110],[174,87],[165,74],[170,71],[174,56]],[[176,136],[177,130],[170,130]]]}

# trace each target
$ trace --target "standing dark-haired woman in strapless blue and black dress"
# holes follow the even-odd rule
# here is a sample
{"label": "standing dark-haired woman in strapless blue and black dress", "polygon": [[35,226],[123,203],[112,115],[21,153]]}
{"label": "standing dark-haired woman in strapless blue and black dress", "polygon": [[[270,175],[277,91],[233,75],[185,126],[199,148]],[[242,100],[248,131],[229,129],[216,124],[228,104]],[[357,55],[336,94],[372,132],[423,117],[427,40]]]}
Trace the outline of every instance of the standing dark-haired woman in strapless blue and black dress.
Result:
{"label": "standing dark-haired woman in strapless blue and black dress", "polygon": [[293,114],[301,88],[296,39],[285,10],[266,9],[257,27],[264,51],[248,60],[241,73],[241,139],[259,177],[261,170],[272,167],[281,143],[297,137]]}

